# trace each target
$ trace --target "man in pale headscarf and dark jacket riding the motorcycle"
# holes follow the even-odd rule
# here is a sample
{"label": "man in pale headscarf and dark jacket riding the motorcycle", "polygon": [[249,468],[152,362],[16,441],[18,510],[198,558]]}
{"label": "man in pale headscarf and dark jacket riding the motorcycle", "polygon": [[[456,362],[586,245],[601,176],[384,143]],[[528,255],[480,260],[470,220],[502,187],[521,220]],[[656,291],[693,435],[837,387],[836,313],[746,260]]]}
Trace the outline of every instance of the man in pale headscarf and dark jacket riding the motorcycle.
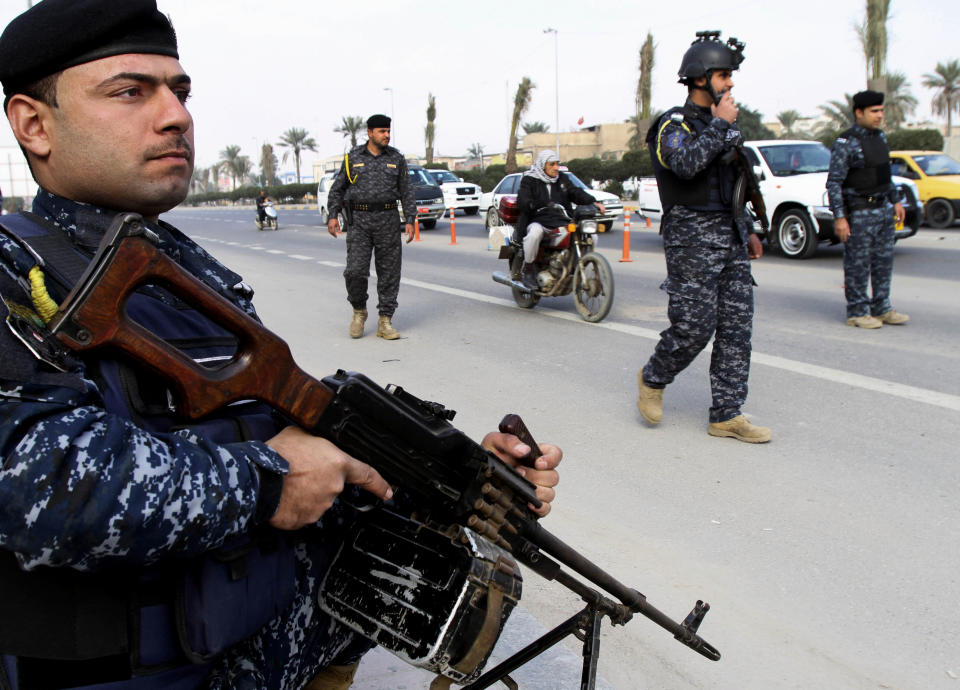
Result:
{"label": "man in pale headscarf and dark jacket riding the motorcycle", "polygon": [[523,173],[517,194],[517,210],[520,214],[517,229],[524,233],[522,280],[531,290],[537,289],[537,252],[544,233],[567,224],[560,209],[551,208],[550,204],[559,204],[569,216],[573,213],[571,202],[593,204],[600,213],[606,210],[603,204],[573,184],[567,174],[560,171],[560,158],[554,151],[541,151],[531,168]]}

